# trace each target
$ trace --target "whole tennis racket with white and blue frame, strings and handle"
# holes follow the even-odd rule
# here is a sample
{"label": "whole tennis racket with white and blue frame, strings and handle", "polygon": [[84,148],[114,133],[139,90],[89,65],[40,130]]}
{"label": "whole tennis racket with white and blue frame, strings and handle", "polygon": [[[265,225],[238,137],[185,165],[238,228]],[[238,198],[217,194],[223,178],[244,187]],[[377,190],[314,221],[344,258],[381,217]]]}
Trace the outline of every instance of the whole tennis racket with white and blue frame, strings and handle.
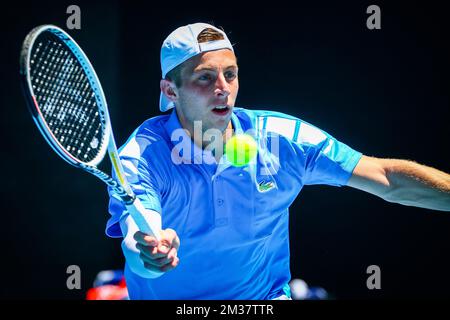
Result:
{"label": "whole tennis racket with white and blue frame, strings and handle", "polygon": [[[20,74],[34,122],[53,150],[110,186],[139,229],[159,238],[161,218],[144,217],[125,178],[100,81],[77,43],[58,27],[34,28],[22,45]],[[106,153],[117,179],[97,168]]]}

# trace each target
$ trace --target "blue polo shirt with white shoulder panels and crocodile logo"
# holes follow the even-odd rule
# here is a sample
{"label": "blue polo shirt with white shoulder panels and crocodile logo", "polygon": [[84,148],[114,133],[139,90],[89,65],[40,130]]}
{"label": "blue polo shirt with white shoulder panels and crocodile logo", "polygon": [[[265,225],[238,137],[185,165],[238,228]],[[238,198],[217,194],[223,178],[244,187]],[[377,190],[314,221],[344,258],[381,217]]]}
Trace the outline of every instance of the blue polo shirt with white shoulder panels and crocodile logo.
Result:
{"label": "blue polo shirt with white shoulder panels and crocodile logo", "polygon": [[[125,265],[131,299],[290,295],[289,206],[304,185],[346,185],[361,153],[287,114],[235,108],[231,120],[259,144],[244,167],[217,164],[190,139],[186,148],[175,110],[145,121],[120,149],[136,195],[181,240],[180,264],[159,278]],[[109,192],[106,233],[122,237],[119,220],[128,213]]]}

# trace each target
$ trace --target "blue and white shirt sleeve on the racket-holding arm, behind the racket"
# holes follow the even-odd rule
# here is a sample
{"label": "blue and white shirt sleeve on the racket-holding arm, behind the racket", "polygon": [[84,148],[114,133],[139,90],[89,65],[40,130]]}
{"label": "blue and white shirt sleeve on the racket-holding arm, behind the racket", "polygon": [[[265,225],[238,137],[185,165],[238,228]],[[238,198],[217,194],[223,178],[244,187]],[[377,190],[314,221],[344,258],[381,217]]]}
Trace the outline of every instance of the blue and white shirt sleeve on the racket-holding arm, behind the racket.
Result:
{"label": "blue and white shirt sleeve on the racket-holding arm, behind the racket", "polygon": [[[122,162],[125,177],[136,197],[146,209],[157,211],[161,214],[161,190],[160,183],[151,159],[146,159],[145,153],[148,140],[142,137],[131,137],[121,149],[119,156]],[[113,174],[114,177],[114,174]],[[108,187],[109,206],[111,214],[106,224],[106,235],[112,238],[122,237],[120,220],[128,215],[125,205],[114,190]]]}

